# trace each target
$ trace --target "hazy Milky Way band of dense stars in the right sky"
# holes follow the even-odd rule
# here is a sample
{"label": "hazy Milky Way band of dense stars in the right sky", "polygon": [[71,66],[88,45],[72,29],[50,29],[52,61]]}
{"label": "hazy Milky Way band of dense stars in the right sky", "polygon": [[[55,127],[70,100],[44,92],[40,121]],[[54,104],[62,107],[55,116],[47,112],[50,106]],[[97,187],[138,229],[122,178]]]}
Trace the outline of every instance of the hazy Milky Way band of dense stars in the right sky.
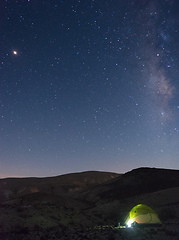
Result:
{"label": "hazy Milky Way band of dense stars in the right sky", "polygon": [[[173,120],[176,110],[176,106],[171,104],[176,92],[169,68],[175,67],[175,54],[171,45],[178,31],[174,28],[169,30],[174,24],[174,19],[171,18],[172,2],[169,1],[167,6],[167,9],[162,9],[160,1],[146,4],[146,13],[142,15],[145,21],[141,27],[142,35],[145,35],[141,48],[141,65],[146,101],[154,122],[161,126]],[[140,14],[138,17],[141,21]]]}

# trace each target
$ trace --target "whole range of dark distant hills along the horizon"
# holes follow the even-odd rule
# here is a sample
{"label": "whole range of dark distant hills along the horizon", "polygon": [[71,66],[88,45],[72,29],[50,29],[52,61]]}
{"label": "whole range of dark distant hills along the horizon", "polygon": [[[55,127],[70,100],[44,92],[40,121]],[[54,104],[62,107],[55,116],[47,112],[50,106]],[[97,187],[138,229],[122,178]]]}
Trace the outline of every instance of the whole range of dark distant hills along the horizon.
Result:
{"label": "whole range of dark distant hills along the horizon", "polygon": [[0,202],[42,193],[61,197],[73,195],[95,203],[175,187],[179,187],[179,170],[158,168],[138,168],[125,174],[87,171],[46,178],[5,178],[0,179]]}

